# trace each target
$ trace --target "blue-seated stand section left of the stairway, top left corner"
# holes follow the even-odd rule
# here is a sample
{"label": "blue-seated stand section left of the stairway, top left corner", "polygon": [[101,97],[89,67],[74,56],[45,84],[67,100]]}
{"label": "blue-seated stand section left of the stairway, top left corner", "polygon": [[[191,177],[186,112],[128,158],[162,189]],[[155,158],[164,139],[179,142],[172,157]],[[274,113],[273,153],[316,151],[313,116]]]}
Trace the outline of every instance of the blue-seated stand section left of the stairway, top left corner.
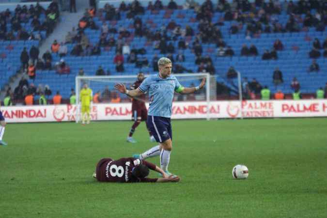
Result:
{"label": "blue-seated stand section left of the stairway, top left corner", "polygon": [[[43,8],[42,5],[48,7]],[[0,12],[1,89],[17,72],[26,70],[22,68],[20,60],[23,48],[30,54],[31,47],[39,47],[42,40],[55,28],[59,17],[58,5],[53,2],[42,5],[23,3],[16,4],[13,8],[12,4],[8,4],[8,8]]]}

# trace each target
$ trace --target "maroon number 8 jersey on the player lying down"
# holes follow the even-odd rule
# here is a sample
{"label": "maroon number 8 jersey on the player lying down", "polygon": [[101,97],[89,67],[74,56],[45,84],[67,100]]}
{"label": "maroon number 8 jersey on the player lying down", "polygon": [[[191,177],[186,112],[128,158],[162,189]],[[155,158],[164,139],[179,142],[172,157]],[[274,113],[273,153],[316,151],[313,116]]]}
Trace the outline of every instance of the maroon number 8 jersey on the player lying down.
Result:
{"label": "maroon number 8 jersey on the player lying down", "polygon": [[96,179],[100,182],[116,183],[156,182],[158,179],[137,178],[132,174],[133,168],[141,163],[150,170],[156,169],[156,165],[153,163],[133,157],[120,158],[118,160],[103,158],[96,165]]}

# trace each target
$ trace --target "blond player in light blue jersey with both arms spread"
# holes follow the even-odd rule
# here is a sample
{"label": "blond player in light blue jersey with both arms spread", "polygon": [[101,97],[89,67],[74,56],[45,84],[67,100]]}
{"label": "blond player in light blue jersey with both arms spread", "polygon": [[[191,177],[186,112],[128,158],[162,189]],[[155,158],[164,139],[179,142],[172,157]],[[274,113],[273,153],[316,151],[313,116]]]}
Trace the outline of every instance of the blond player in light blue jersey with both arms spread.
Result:
{"label": "blond player in light blue jersey with both arms spread", "polygon": [[158,61],[159,73],[150,75],[135,90],[127,90],[124,84],[115,84],[115,89],[131,97],[149,93],[148,126],[159,145],[149,149],[135,158],[146,159],[160,155],[160,167],[168,175],[168,165],[172,149],[171,106],[174,92],[181,94],[194,93],[205,85],[205,78],[196,87],[186,88],[179,84],[176,77],[171,75],[172,63],[168,58]]}

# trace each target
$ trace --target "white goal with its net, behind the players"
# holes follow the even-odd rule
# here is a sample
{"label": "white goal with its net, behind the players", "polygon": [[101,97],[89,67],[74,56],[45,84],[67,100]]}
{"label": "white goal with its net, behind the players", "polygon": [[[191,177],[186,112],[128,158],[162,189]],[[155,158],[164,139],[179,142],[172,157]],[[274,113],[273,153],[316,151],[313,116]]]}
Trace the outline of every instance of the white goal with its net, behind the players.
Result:
{"label": "white goal with its net, behind the players", "polygon": [[[145,77],[148,77],[149,75],[145,75]],[[192,94],[179,94],[174,93],[173,98],[173,109],[172,109],[172,118],[174,118],[174,112],[180,113],[181,116],[175,116],[175,118],[183,119],[183,111],[181,110],[196,110],[197,107],[192,107],[192,104],[195,104],[197,102],[202,103],[202,117],[197,118],[206,118],[209,119],[209,104],[210,100],[213,100],[210,95],[216,93],[216,89],[211,90],[211,86],[213,84],[216,84],[216,80],[211,79],[210,75],[208,73],[188,73],[188,74],[173,74],[179,81],[179,83],[184,87],[194,87],[198,86],[202,80],[202,78],[206,78],[206,85],[203,89],[192,93]],[[83,87],[83,84],[88,84],[88,87],[92,89],[93,96],[95,93],[99,94],[100,97],[100,103],[94,104],[97,105],[97,113],[101,114],[102,108],[104,105],[112,107],[119,107],[124,106],[126,107],[126,111],[128,109],[131,109],[131,99],[122,93],[119,93],[117,90],[114,89],[114,84],[116,83],[123,83],[125,84],[127,89],[130,89],[130,86],[137,80],[137,75],[131,75],[131,76],[78,76],[76,77],[76,122],[80,121],[81,115],[80,115],[80,103],[79,103],[79,95],[80,90]],[[211,81],[213,80],[213,81]],[[214,87],[213,87],[214,88]],[[214,96],[216,96],[214,94]],[[148,106],[148,97],[143,97],[145,99],[146,105]],[[191,104],[191,103],[192,104]],[[186,104],[188,103],[188,104]],[[185,108],[188,105],[190,107]],[[204,105],[204,107],[203,107]],[[185,106],[185,107],[184,107]],[[121,110],[122,107],[120,107]],[[203,112],[204,111],[204,112]],[[131,119],[131,113],[128,112],[128,116],[115,116],[116,114],[111,114],[112,116],[106,116],[105,118],[103,116],[97,116],[97,120],[127,120]],[[205,113],[205,114],[203,114]],[[92,116],[91,116],[92,117]]]}

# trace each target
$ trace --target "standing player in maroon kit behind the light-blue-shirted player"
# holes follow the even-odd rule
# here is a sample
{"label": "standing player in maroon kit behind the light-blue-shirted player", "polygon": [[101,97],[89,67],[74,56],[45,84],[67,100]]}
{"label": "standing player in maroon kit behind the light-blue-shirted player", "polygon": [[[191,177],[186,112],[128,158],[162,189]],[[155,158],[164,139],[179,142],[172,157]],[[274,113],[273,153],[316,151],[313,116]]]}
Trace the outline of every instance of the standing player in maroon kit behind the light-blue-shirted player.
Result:
{"label": "standing player in maroon kit behind the light-blue-shirted player", "polygon": [[[137,89],[142,81],[144,80],[144,74],[139,73],[138,79],[131,85],[130,89],[135,90]],[[145,121],[146,128],[148,129],[149,135],[150,135],[150,141],[155,142],[156,139],[152,135],[148,123],[146,120],[148,119],[148,110],[145,107],[145,96],[141,95],[138,98],[132,98],[132,120],[134,120],[134,124],[132,125],[127,141],[131,143],[136,143],[137,141],[133,139],[133,134],[135,132],[135,129],[140,125],[141,121]]]}

